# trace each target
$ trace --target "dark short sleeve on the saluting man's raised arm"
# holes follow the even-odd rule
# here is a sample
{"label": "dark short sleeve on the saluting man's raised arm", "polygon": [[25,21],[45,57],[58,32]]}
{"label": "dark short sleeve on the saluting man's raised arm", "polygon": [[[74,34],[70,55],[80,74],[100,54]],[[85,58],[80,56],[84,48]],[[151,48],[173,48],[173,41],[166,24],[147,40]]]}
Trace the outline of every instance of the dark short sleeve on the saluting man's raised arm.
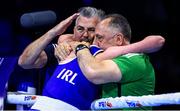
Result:
{"label": "dark short sleeve on the saluting man's raised arm", "polygon": [[44,49],[44,51],[45,51],[45,53],[47,55],[47,58],[48,58],[48,60],[47,60],[47,65],[48,66],[58,63],[56,57],[54,56],[54,46],[55,45],[56,44],[50,44]]}

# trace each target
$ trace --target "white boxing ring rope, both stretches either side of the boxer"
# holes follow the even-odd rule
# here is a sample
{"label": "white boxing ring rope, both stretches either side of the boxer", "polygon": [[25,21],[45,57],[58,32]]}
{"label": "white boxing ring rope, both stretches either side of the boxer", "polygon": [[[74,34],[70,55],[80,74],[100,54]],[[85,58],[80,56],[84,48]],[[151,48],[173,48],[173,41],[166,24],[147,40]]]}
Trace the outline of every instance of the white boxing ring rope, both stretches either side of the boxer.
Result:
{"label": "white boxing ring rope, both stretches either side of the boxer", "polygon": [[[43,96],[8,92],[7,103],[33,105],[36,102],[36,100],[40,97]],[[117,109],[117,108],[119,109],[119,108],[178,105],[178,104],[180,104],[180,92],[159,94],[159,95],[102,98],[92,102],[91,109],[92,110]]]}

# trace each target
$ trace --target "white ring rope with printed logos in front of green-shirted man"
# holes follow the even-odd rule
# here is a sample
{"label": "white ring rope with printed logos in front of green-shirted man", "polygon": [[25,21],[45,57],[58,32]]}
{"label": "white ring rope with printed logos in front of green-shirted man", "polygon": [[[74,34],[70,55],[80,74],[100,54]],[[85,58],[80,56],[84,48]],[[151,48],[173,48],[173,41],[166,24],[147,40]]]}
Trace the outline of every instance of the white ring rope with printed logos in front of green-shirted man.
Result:
{"label": "white ring rope with printed logos in front of green-shirted man", "polygon": [[143,106],[160,106],[180,104],[180,92],[160,95],[127,96],[116,98],[102,98],[91,104],[91,109],[120,109]]}

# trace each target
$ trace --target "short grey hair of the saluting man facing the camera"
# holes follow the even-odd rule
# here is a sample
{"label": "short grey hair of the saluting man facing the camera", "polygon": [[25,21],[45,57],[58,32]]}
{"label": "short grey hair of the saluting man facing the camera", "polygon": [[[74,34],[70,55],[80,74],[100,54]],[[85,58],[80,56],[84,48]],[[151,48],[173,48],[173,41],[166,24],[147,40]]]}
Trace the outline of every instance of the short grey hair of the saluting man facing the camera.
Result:
{"label": "short grey hair of the saluting man facing the camera", "polygon": [[[78,10],[78,12],[80,13],[80,16],[83,16],[86,18],[97,17],[99,20],[104,19],[104,16],[105,16],[105,12],[103,10],[97,9],[94,7],[82,7]],[[76,19],[76,24],[79,17]]]}

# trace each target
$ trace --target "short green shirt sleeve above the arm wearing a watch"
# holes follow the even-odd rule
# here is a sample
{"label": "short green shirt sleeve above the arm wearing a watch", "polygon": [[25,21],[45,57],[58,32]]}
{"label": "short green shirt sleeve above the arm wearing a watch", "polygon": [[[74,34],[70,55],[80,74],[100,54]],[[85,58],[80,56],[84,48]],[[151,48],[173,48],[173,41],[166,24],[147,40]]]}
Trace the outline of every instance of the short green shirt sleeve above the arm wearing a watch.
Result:
{"label": "short green shirt sleeve above the arm wearing a watch", "polygon": [[121,70],[121,83],[136,81],[144,76],[144,60],[137,58],[141,58],[141,56],[119,56],[113,59]]}

